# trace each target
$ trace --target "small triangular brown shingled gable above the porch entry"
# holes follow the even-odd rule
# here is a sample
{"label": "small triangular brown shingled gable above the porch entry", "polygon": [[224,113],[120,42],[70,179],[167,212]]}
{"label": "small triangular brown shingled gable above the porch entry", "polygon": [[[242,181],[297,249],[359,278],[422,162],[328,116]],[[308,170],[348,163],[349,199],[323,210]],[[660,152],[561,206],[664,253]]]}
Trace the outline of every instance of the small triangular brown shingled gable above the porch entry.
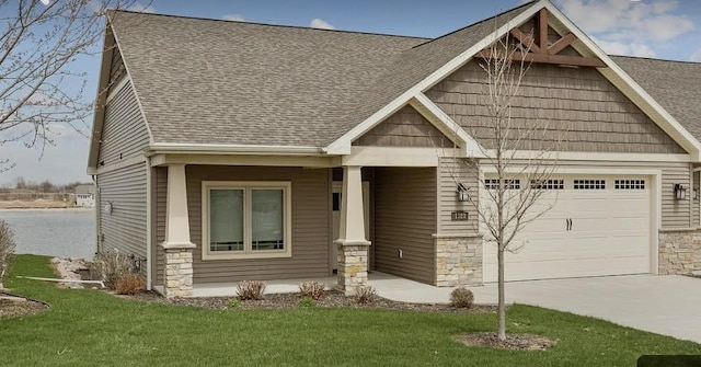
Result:
{"label": "small triangular brown shingled gable above the porch entry", "polygon": [[353,141],[354,146],[450,148],[452,141],[406,105]]}

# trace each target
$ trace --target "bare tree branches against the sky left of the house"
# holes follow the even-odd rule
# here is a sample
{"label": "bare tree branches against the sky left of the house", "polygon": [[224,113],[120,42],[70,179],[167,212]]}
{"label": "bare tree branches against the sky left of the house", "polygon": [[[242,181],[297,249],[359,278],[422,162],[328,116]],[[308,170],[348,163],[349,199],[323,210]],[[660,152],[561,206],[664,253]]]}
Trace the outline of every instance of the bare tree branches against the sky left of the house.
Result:
{"label": "bare tree branches against the sky left of the house", "polygon": [[[59,125],[88,136],[94,95],[92,90],[85,94],[87,73],[76,61],[101,51],[93,46],[103,38],[108,8],[135,4],[0,0],[0,146],[21,142],[43,152]],[[0,170],[10,164],[0,157]]]}

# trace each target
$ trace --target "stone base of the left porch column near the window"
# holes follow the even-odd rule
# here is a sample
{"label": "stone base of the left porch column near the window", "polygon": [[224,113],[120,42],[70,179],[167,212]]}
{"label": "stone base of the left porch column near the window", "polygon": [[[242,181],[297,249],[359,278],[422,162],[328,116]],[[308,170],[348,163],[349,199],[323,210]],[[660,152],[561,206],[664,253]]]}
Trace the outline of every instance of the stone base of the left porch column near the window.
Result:
{"label": "stone base of the left porch column near the window", "polygon": [[163,295],[168,298],[193,295],[194,244],[161,244],[165,255]]}

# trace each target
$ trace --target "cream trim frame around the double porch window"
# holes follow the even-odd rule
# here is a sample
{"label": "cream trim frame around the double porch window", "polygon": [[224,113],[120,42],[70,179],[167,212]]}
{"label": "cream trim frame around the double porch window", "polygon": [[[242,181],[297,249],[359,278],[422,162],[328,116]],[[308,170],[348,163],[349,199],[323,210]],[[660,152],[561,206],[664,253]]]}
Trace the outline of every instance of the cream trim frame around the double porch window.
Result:
{"label": "cream trim frame around the double porch window", "polygon": [[[209,191],[243,190],[243,242],[244,252],[209,251]],[[251,191],[279,188],[285,196],[285,249],[251,250]],[[202,182],[202,260],[275,259],[292,256],[292,184],[289,181],[203,181]]]}

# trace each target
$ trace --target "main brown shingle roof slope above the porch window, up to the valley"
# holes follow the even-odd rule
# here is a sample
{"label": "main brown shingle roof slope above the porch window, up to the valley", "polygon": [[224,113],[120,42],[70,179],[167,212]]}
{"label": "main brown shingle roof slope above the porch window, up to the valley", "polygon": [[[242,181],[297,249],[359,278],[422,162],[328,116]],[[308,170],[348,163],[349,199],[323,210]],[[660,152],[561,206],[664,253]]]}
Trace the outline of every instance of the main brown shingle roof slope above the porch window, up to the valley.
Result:
{"label": "main brown shingle roof slope above the porch window, up to the valley", "polygon": [[425,38],[113,12],[156,142],[321,147]]}

